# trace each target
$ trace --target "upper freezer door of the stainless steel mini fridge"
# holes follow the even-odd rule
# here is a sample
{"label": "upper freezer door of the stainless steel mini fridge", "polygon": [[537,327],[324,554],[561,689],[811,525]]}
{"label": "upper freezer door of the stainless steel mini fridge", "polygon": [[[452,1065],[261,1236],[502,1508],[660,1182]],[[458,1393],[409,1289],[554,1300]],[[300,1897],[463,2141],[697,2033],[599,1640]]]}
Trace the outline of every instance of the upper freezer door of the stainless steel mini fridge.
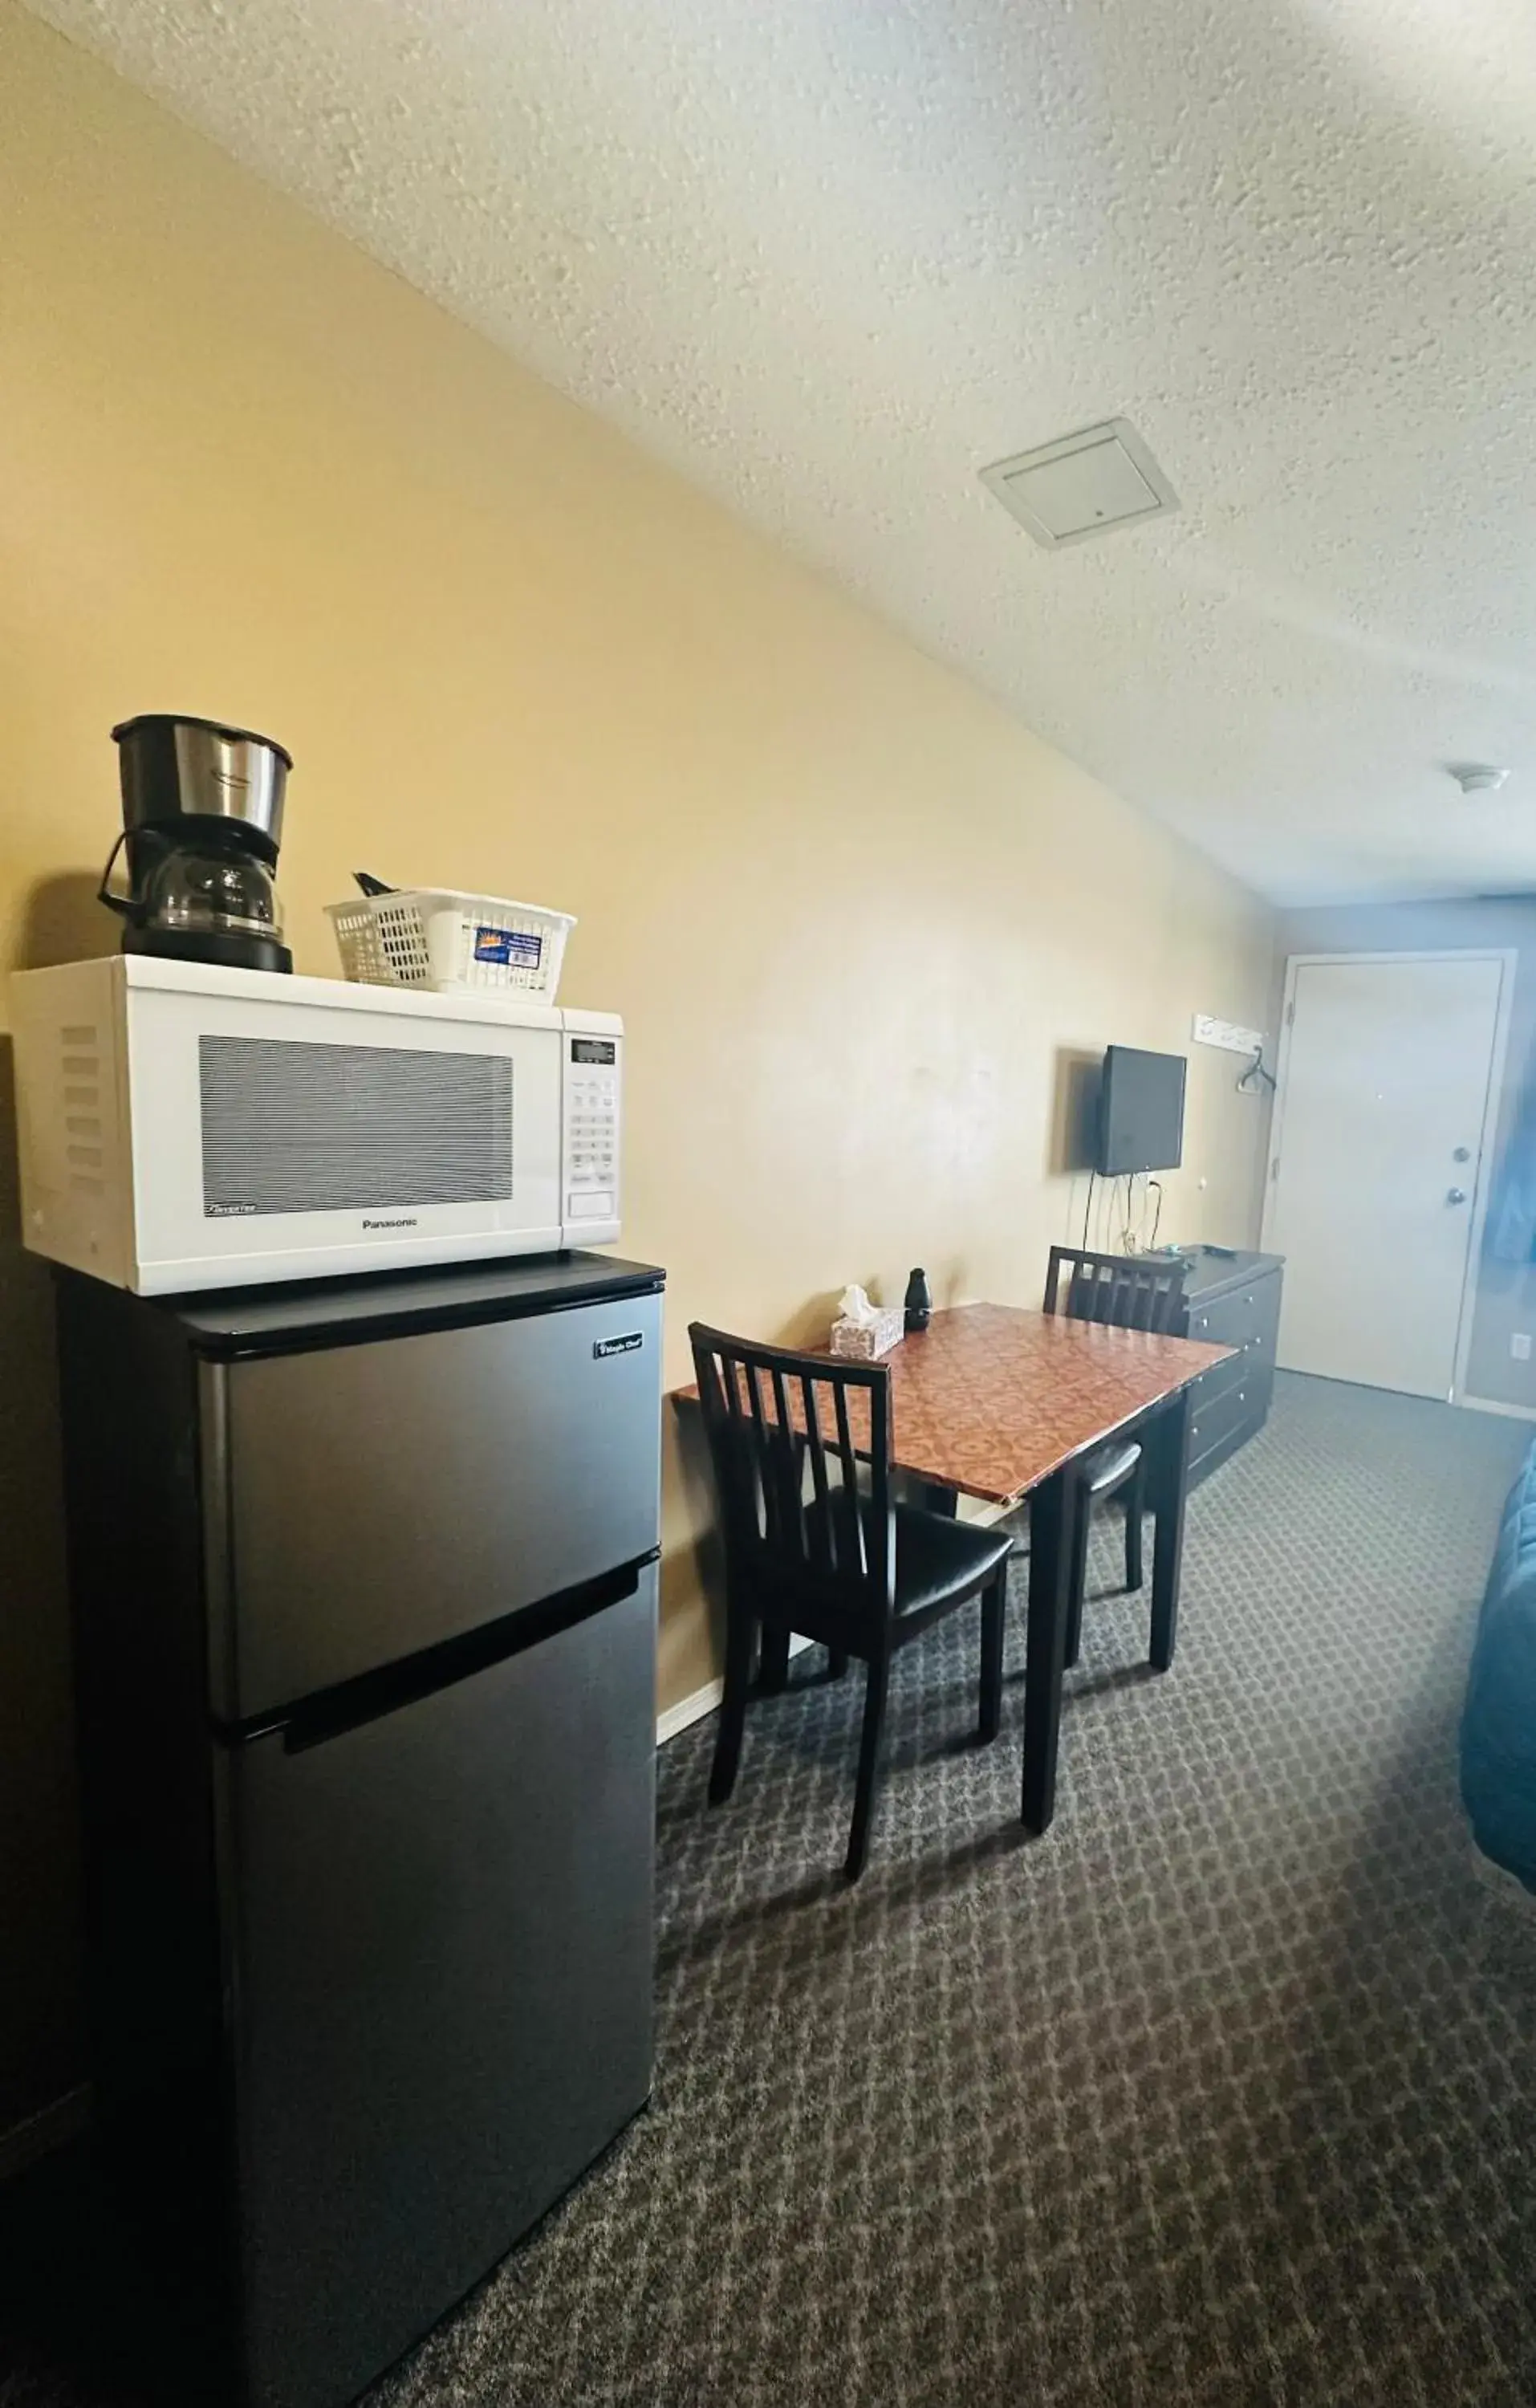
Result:
{"label": "upper freezer door of the stainless steel mini fridge", "polygon": [[209,1686],[277,1714],[657,1544],[660,1296],[209,1365]]}

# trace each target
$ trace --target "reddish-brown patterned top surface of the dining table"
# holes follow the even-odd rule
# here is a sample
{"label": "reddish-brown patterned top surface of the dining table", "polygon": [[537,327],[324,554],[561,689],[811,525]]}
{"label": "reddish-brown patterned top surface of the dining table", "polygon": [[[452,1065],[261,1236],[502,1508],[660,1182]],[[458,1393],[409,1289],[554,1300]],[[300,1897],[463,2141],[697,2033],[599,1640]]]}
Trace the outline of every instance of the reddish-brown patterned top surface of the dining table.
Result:
{"label": "reddish-brown patterned top surface of the dining table", "polygon": [[881,1356],[896,1466],[1006,1505],[1230,1351],[1018,1305],[953,1305]]}

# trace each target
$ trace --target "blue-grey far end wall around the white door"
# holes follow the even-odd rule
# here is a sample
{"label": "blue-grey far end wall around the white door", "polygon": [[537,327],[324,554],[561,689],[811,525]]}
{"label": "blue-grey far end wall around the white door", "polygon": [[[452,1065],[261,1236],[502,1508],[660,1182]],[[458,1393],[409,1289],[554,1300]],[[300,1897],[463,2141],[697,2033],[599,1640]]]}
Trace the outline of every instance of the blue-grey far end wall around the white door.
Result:
{"label": "blue-grey far end wall around the white door", "polygon": [[[1502,1161],[1522,1096],[1536,1093],[1536,896],[1449,903],[1339,903],[1281,915],[1278,975],[1290,954],[1514,951],[1514,1004],[1493,1161]],[[1276,995],[1278,1007],[1278,995]],[[1274,1016],[1274,1014],[1271,1014]],[[1490,1165],[1493,1168],[1493,1165]],[[1510,1356],[1512,1332],[1536,1332],[1536,1267],[1478,1264],[1466,1389],[1536,1411],[1536,1358]]]}

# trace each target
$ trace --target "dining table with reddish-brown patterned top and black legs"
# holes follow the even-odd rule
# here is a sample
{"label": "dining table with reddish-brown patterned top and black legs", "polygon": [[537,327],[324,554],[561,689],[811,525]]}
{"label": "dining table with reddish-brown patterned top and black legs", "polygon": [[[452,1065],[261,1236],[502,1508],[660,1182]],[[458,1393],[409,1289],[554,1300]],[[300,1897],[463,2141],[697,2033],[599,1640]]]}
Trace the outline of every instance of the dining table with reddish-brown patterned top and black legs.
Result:
{"label": "dining table with reddish-brown patterned top and black legs", "polygon": [[[1117,1329],[1023,1305],[951,1305],[881,1361],[891,1375],[891,1452],[915,1503],[1002,1519],[1028,1507],[1023,1796],[1030,1832],[1057,1801],[1067,1664],[1071,1517],[1100,1447],[1136,1440],[1153,1515],[1151,1666],[1168,1671],[1180,1616],[1189,1392],[1230,1346]],[[689,1392],[684,1392],[689,1394]],[[761,1681],[782,1686],[787,1635]]]}

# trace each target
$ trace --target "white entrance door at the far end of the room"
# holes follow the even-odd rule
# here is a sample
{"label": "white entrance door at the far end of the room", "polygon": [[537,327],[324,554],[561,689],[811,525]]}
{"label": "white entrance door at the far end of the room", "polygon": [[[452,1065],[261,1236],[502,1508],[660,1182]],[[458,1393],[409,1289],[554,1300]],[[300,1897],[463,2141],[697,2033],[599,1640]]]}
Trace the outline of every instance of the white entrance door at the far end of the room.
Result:
{"label": "white entrance door at the far end of the room", "polygon": [[1264,1245],[1278,1361],[1449,1397],[1505,963],[1298,961]]}

